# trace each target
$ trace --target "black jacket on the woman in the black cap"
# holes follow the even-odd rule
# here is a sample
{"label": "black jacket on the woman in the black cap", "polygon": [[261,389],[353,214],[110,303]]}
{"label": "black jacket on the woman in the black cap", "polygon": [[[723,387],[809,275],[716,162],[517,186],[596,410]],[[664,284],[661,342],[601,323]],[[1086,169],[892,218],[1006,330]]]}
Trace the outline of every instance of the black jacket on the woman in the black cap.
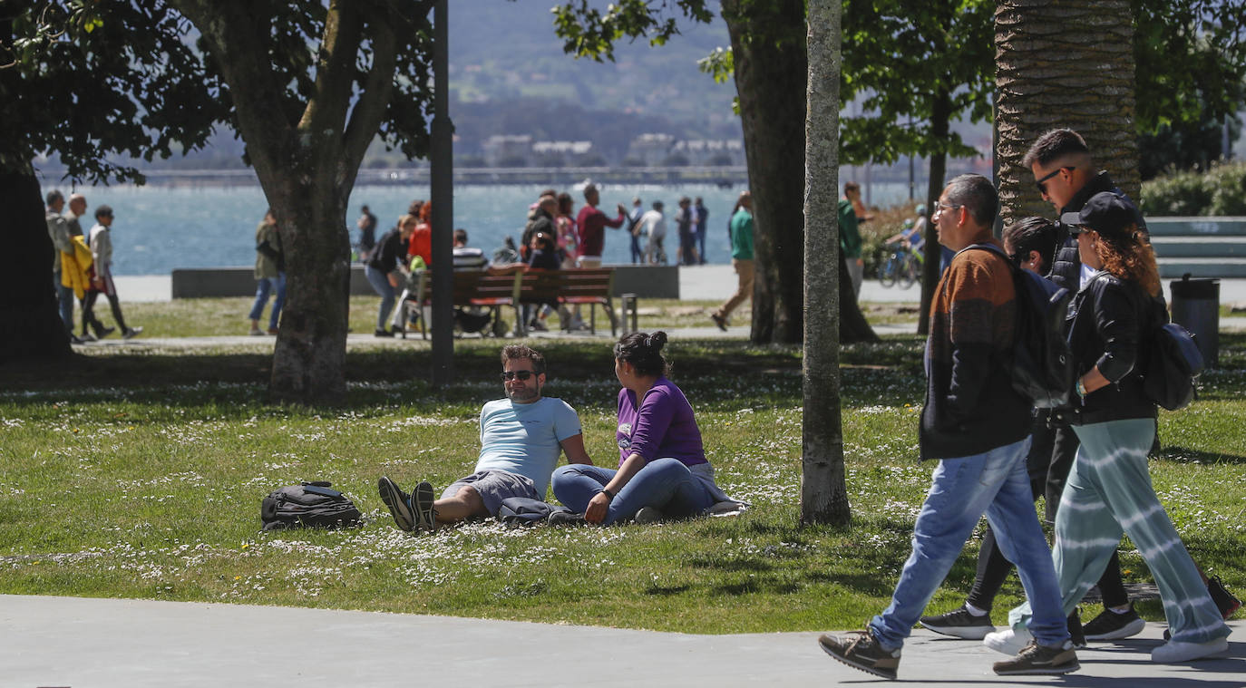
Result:
{"label": "black jacket on the woman in the black cap", "polygon": [[1078,378],[1098,366],[1111,384],[1074,396],[1065,415],[1072,424],[1155,418],[1155,404],[1143,390],[1151,332],[1160,298],[1146,295],[1134,282],[1099,272],[1069,304],[1069,348]]}

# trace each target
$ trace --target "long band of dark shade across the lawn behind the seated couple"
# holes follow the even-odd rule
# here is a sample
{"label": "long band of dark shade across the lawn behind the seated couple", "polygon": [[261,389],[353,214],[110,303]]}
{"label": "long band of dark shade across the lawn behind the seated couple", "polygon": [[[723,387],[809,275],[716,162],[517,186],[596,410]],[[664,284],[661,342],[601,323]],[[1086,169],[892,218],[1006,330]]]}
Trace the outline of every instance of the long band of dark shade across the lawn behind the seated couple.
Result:
{"label": "long band of dark shade across the lawn behind the seated couple", "polygon": [[[573,406],[613,410],[617,380],[613,353],[599,342],[541,342],[547,360],[547,394]],[[876,348],[871,353],[871,346]],[[500,396],[497,342],[460,342],[455,348],[456,384],[432,389],[431,351],[379,349],[346,356],[348,398],[344,409],[370,409],[395,403],[416,409],[446,404],[476,406]],[[903,404],[921,394],[913,384],[920,360],[908,343],[845,348],[842,403]],[[800,348],[753,345],[739,340],[680,340],[668,351],[672,379],[694,403],[709,410],[801,404]],[[920,358],[920,350],[916,354]],[[854,363],[857,361],[857,363]],[[851,368],[865,365],[868,368]],[[269,404],[272,356],[255,353],[145,351],[110,355],[75,354],[65,360],[34,360],[0,365],[0,388],[21,390],[5,401],[46,404],[49,394],[72,393],[76,401],[93,398],[155,403],[176,408],[221,406],[214,413],[253,414]],[[920,376],[920,375],[918,375]],[[483,389],[483,391],[482,391]]]}

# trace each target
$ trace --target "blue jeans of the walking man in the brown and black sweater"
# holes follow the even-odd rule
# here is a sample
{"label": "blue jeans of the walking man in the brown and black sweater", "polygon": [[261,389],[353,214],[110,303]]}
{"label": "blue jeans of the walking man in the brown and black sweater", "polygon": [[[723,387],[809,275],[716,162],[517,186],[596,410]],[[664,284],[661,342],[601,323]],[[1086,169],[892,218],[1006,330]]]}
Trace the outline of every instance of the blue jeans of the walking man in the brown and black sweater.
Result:
{"label": "blue jeans of the walking man in the brown and black sweater", "polygon": [[1025,595],[1037,609],[1029,624],[1039,644],[1069,637],[1060,609],[1052,551],[1034,512],[1025,454],[1029,437],[984,454],[939,461],[913,526],[913,552],[905,562],[891,606],[870,619],[883,648],[905,644],[913,624],[986,512],[999,550],[1017,565]]}

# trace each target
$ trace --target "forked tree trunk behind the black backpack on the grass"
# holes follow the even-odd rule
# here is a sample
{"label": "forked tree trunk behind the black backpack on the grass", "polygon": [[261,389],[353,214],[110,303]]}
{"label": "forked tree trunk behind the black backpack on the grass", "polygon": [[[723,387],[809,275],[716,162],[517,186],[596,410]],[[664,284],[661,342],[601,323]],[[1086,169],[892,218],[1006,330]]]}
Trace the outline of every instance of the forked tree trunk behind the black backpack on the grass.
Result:
{"label": "forked tree trunk behind the black backpack on the grass", "polygon": [[[385,118],[396,62],[395,25],[369,4],[330,0],[313,84],[299,118],[265,56],[269,29],[255,7],[174,0],[202,32],[237,113],[238,132],[273,207],[285,253],[287,298],[273,354],[275,400],[345,399],[350,236],[346,201],[368,145]],[[354,90],[360,50],[370,70]]]}

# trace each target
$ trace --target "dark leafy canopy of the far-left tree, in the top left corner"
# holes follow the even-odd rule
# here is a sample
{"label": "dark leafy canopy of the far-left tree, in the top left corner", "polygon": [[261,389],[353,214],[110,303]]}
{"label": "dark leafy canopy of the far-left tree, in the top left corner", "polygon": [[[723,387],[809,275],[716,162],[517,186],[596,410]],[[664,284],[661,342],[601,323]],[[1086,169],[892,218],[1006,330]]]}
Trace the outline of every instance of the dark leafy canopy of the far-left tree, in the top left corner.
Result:
{"label": "dark leafy canopy of the far-left tree, in the top left corner", "polygon": [[56,155],[75,181],[142,181],[111,155],[198,148],[227,108],[162,2],[0,2],[0,168]]}

